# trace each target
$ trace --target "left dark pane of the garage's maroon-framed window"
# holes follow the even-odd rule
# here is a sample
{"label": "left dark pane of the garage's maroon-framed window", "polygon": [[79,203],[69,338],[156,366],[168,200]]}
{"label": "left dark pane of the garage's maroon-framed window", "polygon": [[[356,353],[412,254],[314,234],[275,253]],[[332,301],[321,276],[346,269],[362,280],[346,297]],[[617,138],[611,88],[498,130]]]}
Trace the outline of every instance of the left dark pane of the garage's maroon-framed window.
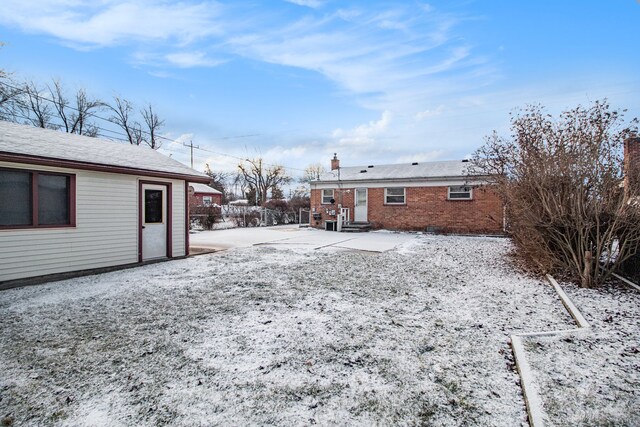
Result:
{"label": "left dark pane of the garage's maroon-framed window", "polygon": [[0,225],[31,225],[31,172],[0,170]]}

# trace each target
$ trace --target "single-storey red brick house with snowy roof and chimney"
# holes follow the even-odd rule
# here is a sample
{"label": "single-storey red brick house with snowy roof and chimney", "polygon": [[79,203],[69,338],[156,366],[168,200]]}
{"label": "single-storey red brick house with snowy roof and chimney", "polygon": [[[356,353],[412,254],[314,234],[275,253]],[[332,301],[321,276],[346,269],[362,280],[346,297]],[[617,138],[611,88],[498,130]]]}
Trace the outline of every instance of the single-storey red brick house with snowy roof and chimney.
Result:
{"label": "single-storey red brick house with snowy roof and chimney", "polygon": [[311,226],[502,234],[504,207],[466,160],[340,167],[311,182]]}

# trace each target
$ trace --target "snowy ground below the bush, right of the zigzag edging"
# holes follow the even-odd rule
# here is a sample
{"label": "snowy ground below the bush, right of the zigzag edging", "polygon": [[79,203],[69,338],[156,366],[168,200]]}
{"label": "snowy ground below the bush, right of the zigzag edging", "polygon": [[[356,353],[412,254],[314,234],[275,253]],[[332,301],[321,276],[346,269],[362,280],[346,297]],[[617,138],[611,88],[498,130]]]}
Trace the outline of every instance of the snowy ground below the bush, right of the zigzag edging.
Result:
{"label": "snowy ground below the bush, right of the zigzag edging", "polygon": [[640,294],[563,289],[592,329],[528,339],[527,357],[553,425],[640,425]]}

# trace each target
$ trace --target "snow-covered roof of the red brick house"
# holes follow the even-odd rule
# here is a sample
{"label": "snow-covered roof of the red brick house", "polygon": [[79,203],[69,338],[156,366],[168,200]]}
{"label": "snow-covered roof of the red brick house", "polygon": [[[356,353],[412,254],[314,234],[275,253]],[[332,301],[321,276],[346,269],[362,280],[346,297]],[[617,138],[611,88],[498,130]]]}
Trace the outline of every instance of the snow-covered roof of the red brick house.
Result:
{"label": "snow-covered roof of the red brick house", "polygon": [[[395,165],[349,166],[325,172],[312,182],[384,181],[460,178],[468,176],[470,162],[447,160],[441,162],[416,162]],[[366,171],[366,172],[363,172]]]}

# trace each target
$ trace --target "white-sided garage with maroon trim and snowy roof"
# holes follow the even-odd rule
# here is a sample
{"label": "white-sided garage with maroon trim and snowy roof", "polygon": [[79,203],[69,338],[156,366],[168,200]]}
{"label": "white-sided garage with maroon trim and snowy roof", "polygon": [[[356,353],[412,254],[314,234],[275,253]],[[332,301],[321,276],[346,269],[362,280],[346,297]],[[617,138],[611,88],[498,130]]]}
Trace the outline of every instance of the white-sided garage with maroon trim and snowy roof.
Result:
{"label": "white-sided garage with maroon trim and snowy roof", "polygon": [[208,180],[150,148],[0,122],[0,285],[188,255],[187,186]]}

